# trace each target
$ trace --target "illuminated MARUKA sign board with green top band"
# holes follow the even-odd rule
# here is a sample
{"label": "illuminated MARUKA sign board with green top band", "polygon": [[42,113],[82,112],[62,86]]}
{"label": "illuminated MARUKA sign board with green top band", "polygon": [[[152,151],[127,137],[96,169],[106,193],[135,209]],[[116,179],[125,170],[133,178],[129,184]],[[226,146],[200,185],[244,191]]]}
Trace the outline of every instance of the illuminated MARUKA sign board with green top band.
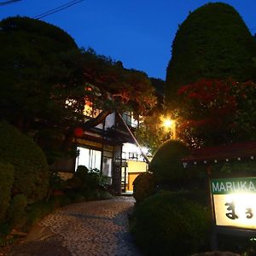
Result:
{"label": "illuminated MARUKA sign board with green top band", "polygon": [[256,177],[211,179],[217,226],[256,230]]}

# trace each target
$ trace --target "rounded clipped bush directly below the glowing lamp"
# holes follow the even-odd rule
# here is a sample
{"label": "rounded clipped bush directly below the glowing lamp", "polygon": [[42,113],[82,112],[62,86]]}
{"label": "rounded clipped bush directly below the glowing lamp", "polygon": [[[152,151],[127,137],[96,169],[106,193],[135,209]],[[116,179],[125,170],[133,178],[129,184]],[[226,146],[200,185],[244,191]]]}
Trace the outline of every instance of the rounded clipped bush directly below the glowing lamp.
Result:
{"label": "rounded clipped bush directly below the glowing lamp", "polygon": [[169,140],[163,143],[154,154],[149,165],[157,183],[172,183],[181,181],[185,176],[182,158],[189,154],[189,148],[184,143]]}

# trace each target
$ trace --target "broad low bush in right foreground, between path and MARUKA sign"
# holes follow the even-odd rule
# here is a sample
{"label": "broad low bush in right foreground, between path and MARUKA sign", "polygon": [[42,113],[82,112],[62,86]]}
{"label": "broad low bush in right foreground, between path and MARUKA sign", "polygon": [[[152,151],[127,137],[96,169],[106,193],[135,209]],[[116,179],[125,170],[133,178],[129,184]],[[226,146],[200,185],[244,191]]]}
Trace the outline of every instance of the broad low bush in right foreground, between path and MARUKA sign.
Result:
{"label": "broad low bush in right foreground, between path and MARUKA sign", "polygon": [[209,249],[210,212],[183,193],[161,192],[139,204],[131,232],[145,255],[191,255]]}

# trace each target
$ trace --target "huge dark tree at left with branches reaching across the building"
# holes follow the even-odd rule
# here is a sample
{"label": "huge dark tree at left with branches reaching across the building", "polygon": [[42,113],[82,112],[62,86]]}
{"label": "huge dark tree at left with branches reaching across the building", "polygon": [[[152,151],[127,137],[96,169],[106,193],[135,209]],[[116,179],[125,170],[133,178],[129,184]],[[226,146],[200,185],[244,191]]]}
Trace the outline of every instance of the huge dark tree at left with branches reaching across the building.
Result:
{"label": "huge dark tree at left with branches reaching across the building", "polygon": [[[90,129],[114,110],[154,105],[145,73],[79,49],[67,32],[40,20],[0,22],[0,118],[44,148],[49,161],[70,148],[76,127]],[[102,109],[84,119],[84,102]]]}

